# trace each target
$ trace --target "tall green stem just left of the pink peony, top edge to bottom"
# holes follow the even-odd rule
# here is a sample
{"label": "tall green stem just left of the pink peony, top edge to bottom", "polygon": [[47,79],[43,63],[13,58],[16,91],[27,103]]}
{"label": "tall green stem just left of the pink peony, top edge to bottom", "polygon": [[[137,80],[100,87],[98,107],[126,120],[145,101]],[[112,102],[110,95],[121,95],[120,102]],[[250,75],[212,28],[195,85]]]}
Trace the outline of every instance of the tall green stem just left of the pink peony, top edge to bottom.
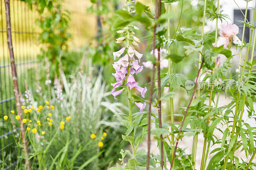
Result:
{"label": "tall green stem just left of the pink peony, top edge to bottom", "polygon": [[[218,3],[217,3],[217,13],[219,13],[219,6],[220,6],[219,4],[220,4],[220,0],[218,0]],[[218,18],[216,18],[216,27],[215,27],[215,47],[217,47],[217,38],[218,38]],[[216,58],[214,59],[214,64],[215,64],[215,60],[216,60]],[[215,66],[213,68],[212,74],[214,73],[214,71],[215,71]],[[211,86],[211,92],[210,92],[210,98],[209,98],[209,106],[212,105],[212,91],[213,91],[213,86]],[[208,113],[209,112],[210,112],[210,108],[208,109]],[[210,116],[207,117],[207,121],[206,121],[207,124],[209,124],[209,119],[210,119]],[[204,137],[204,147],[203,147],[203,154],[202,154],[200,170],[204,169],[204,156],[205,156],[206,142],[207,142],[207,139],[206,139],[206,134],[205,134],[205,137]]]}

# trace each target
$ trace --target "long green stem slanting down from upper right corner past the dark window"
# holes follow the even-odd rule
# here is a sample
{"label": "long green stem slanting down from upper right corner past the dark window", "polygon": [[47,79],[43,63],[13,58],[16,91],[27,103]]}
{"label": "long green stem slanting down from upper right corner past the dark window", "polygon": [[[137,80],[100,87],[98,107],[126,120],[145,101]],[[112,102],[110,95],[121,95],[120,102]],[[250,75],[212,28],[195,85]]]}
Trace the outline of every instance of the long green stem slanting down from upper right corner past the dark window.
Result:
{"label": "long green stem slanting down from upper right corner past the dark window", "polygon": [[[256,8],[256,4],[255,4],[255,8]],[[254,10],[253,20],[252,20],[252,23],[253,23],[253,24],[254,24],[254,22],[255,22],[255,14],[256,14],[256,11]],[[246,66],[246,61],[247,61],[247,58],[248,58],[248,55],[249,55],[249,52],[250,52],[250,45],[251,45],[251,43],[252,43],[252,34],[253,34],[253,29],[251,28],[251,34],[250,34],[250,39],[249,39],[249,46],[248,46],[247,51],[246,51],[246,55],[245,55],[245,59],[244,59],[244,65],[243,65],[242,73],[241,73],[241,75],[240,75],[240,80],[239,80],[240,83],[241,83],[242,80],[243,80],[243,75],[244,75],[244,70],[245,70],[245,66]],[[253,40],[253,44],[255,44],[255,39]],[[231,132],[231,138],[234,136],[234,133],[235,133],[239,99],[240,99],[240,92],[238,91],[238,92],[237,92],[237,98],[236,98],[236,110],[235,110],[235,115],[234,115],[234,122],[233,122],[233,127],[232,127],[232,132]],[[241,113],[241,114],[242,114],[242,113]],[[240,118],[242,119],[241,116],[240,116]],[[235,146],[236,146],[236,144],[234,144],[234,147],[235,147]],[[224,165],[223,165],[223,170],[224,170],[224,169],[226,168],[226,166],[227,166],[229,154],[230,154],[230,152],[227,153],[227,156],[226,156],[226,158],[225,158],[225,162],[224,162]],[[231,167],[230,167],[230,168],[231,168]]]}

